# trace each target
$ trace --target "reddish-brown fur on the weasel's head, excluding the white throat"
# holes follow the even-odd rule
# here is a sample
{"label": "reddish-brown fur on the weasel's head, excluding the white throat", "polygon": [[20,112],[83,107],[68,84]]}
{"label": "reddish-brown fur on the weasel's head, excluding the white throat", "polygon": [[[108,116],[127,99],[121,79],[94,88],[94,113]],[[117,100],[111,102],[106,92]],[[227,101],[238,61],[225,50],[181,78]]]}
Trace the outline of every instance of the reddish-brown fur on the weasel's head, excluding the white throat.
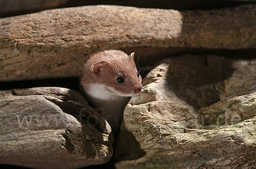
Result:
{"label": "reddish-brown fur on the weasel's head, excluding the white throat", "polygon": [[[106,61],[106,62],[100,62]],[[100,62],[99,65],[95,65]],[[92,66],[95,65],[95,68]],[[99,72],[97,73],[99,68]],[[122,76],[123,83],[117,83],[116,78]],[[123,51],[109,50],[94,54],[84,64],[84,74],[81,78],[81,85],[85,90],[89,90],[90,83],[104,84],[113,87],[122,94],[130,94],[135,89],[142,87],[141,78],[137,77],[137,69],[134,56],[131,57]],[[135,94],[135,93],[134,93]]]}

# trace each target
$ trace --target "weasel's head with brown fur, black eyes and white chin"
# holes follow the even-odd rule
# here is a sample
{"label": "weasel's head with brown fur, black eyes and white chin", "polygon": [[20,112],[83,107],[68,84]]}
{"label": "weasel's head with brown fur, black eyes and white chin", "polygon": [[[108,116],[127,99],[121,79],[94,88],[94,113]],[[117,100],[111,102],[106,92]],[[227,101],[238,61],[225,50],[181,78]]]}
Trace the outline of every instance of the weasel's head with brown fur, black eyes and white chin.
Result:
{"label": "weasel's head with brown fur, black eyes and white chin", "polygon": [[[98,53],[95,57],[99,55],[101,59],[89,68],[93,80],[87,87],[84,86],[88,95],[97,99],[116,100],[140,93],[142,79],[134,62],[134,53],[127,55],[122,51],[111,50]],[[86,78],[89,77],[83,77],[82,81]]]}

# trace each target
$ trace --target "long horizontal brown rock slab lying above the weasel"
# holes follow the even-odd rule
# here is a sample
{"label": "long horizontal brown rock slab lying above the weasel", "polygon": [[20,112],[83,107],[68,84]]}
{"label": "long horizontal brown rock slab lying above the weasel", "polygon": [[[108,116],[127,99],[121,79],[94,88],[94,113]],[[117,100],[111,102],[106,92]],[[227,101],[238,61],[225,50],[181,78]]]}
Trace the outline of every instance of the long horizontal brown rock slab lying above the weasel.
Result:
{"label": "long horizontal brown rock slab lying above the weasel", "polygon": [[90,54],[105,49],[154,62],[166,52],[255,49],[255,19],[254,4],[195,11],[83,6],[2,18],[0,81],[80,76]]}

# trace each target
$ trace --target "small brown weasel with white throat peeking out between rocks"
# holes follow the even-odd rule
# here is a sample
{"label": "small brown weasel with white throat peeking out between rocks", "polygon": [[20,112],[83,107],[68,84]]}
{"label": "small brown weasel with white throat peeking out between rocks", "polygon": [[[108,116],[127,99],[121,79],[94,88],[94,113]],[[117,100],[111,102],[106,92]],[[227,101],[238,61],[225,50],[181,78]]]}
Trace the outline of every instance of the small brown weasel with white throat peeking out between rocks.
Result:
{"label": "small brown weasel with white throat peeking out between rocks", "polygon": [[128,98],[142,89],[141,80],[134,53],[127,55],[123,51],[108,50],[87,60],[80,83],[87,100],[106,118],[112,132],[116,132]]}

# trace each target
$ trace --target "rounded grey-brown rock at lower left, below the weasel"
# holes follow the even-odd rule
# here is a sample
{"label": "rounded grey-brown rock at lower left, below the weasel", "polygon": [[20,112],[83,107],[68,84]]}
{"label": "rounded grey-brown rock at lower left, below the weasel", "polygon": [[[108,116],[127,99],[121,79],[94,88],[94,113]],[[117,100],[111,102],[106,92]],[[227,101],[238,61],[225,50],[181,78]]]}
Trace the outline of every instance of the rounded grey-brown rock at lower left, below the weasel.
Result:
{"label": "rounded grey-brown rock at lower left, below the weasel", "polygon": [[1,164],[80,168],[106,163],[113,154],[109,124],[66,88],[0,91],[0,124]]}

